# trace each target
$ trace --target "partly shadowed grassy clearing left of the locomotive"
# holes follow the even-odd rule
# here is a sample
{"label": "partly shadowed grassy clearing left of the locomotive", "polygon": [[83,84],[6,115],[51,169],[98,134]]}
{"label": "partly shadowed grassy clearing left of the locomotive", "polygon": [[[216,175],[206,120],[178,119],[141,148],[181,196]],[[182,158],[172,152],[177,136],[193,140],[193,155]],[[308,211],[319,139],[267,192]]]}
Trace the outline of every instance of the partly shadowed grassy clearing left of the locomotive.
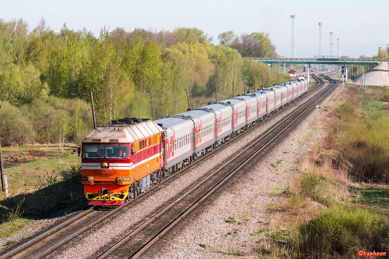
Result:
{"label": "partly shadowed grassy clearing left of the locomotive", "polygon": [[[5,201],[4,196],[0,200],[0,215],[3,216],[0,237],[12,236],[36,219],[70,213],[85,204],[81,166],[74,166],[80,164],[80,158],[73,148],[68,147],[64,153],[51,152],[54,149],[51,145],[6,149],[11,166],[5,171],[11,191],[9,201]],[[29,152],[33,159],[40,160],[19,163],[12,155],[15,152],[19,152],[19,158]],[[47,158],[46,152],[53,154],[53,158]],[[19,165],[12,166],[13,162]]]}

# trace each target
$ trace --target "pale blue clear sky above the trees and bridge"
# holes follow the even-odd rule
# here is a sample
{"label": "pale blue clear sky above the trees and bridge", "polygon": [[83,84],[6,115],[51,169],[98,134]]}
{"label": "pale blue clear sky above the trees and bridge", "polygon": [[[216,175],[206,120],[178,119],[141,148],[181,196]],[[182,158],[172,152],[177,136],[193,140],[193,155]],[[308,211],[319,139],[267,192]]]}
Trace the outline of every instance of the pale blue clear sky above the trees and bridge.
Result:
{"label": "pale blue clear sky above the trees and bridge", "polygon": [[30,30],[41,17],[58,32],[64,23],[69,28],[86,28],[98,36],[107,26],[131,31],[134,28],[174,30],[196,27],[213,37],[232,30],[236,35],[270,33],[281,56],[291,56],[291,19],[294,19],[294,57],[312,58],[319,54],[319,22],[322,22],[321,54],[359,57],[377,54],[389,43],[388,0],[0,0],[0,18],[23,18]]}

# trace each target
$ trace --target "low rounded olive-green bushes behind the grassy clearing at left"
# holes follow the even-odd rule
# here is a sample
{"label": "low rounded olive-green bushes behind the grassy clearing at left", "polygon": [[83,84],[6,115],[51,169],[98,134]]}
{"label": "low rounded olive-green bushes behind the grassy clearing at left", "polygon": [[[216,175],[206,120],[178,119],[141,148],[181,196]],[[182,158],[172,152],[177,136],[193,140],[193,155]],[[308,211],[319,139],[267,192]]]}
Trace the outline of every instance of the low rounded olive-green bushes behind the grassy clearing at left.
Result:
{"label": "low rounded olive-green bushes behind the grassy clearing at left", "polygon": [[58,143],[65,130],[65,141],[81,143],[93,129],[89,105],[79,99],[42,97],[16,107],[0,101],[0,138],[3,145]]}

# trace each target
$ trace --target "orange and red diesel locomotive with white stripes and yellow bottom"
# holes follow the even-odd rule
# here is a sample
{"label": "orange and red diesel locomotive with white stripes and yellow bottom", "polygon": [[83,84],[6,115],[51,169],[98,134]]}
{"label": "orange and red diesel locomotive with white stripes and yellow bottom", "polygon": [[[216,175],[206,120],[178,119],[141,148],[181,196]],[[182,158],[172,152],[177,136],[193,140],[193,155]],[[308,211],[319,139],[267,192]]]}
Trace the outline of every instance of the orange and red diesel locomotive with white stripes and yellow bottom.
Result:
{"label": "orange and red diesel locomotive with white stripes and yellow bottom", "polygon": [[88,205],[122,205],[160,182],[162,134],[150,119],[119,119],[94,129],[82,141]]}

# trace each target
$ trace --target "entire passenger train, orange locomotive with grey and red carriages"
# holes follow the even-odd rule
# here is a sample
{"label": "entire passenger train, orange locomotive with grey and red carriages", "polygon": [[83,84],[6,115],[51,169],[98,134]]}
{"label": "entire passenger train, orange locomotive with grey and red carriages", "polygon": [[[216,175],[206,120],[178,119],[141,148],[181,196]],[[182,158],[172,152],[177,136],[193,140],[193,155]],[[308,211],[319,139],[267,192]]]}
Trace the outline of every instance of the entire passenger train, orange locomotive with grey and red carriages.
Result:
{"label": "entire passenger train, orange locomotive with grey and red carriages", "polygon": [[88,204],[123,205],[307,90],[307,80],[292,80],[156,121],[124,118],[98,126],[82,141]]}

